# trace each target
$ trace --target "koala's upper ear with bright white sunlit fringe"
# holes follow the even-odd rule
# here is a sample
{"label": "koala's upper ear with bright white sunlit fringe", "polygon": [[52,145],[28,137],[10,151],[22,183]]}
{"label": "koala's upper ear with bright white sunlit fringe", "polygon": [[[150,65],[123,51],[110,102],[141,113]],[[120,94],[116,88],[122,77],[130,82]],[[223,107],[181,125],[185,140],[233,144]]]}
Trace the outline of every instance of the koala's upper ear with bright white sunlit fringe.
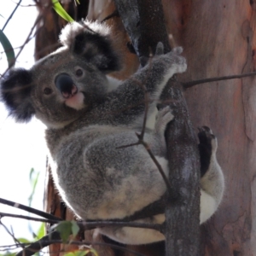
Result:
{"label": "koala's upper ear with bright white sunlit fringe", "polygon": [[104,73],[121,68],[119,54],[113,49],[113,35],[108,26],[88,20],[82,24],[73,22],[62,30],[60,40],[72,54],[83,57]]}

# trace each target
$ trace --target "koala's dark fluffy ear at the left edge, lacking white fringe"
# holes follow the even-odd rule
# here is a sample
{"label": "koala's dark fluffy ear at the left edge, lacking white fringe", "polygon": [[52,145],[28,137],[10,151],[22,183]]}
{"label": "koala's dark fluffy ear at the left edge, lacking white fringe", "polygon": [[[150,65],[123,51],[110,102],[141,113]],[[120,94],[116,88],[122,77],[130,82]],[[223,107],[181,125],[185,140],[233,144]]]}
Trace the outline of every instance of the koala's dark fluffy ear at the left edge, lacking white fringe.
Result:
{"label": "koala's dark fluffy ear at the left edge, lacking white fringe", "polygon": [[14,68],[1,79],[0,99],[9,115],[18,122],[28,122],[35,113],[31,102],[32,74],[26,69]]}

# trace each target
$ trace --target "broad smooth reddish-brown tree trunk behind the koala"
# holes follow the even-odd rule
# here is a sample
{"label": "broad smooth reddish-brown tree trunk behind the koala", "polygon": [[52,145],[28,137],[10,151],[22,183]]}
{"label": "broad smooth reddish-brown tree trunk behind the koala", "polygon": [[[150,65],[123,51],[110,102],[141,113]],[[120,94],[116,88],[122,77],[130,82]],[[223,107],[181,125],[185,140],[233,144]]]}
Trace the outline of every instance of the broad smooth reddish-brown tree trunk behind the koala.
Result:
{"label": "broad smooth reddish-brown tree trunk behind the koala", "polygon": [[[162,3],[173,44],[183,46],[183,55],[188,60],[187,73],[179,76],[182,81],[254,71],[256,3],[253,0],[162,0]],[[113,10],[113,3],[107,0],[90,1],[88,18],[103,20]],[[137,58],[126,50],[129,38],[119,18],[114,17],[108,23],[124,35],[127,57],[119,78],[125,78],[137,69]],[[217,156],[225,177],[224,200],[214,217],[201,226],[201,255],[256,255],[254,78],[196,85],[184,95],[195,129],[208,125],[218,137]],[[52,198],[48,203],[52,204]],[[164,255],[160,243],[130,248],[145,255]]]}

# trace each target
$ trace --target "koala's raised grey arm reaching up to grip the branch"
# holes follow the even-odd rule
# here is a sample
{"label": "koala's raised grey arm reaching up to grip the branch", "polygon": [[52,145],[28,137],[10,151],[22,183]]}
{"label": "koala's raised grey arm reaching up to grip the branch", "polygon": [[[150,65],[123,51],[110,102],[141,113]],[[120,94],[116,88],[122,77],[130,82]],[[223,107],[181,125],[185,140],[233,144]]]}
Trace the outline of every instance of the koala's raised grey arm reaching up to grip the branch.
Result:
{"label": "koala's raised grey arm reaching up to grip the branch", "polygon": [[181,52],[181,48],[175,48],[163,54],[163,44],[159,43],[156,54],[149,59],[148,64],[108,94],[102,105],[104,113],[111,113],[112,116],[117,113],[120,125],[131,124],[131,119],[144,111],[146,92],[149,94],[149,112],[152,111],[166,82],[174,73],[182,73],[187,68]]}

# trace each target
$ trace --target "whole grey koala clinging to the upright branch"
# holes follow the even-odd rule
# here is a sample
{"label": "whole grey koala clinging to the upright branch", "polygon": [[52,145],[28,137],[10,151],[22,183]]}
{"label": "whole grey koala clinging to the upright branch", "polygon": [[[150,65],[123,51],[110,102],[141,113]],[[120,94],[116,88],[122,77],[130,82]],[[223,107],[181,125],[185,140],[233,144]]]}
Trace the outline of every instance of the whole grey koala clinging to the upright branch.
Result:
{"label": "whole grey koala clinging to the upright branch", "polygon": [[[108,26],[87,20],[61,32],[62,47],[29,69],[11,69],[1,80],[1,99],[18,122],[33,116],[46,126],[52,176],[61,198],[84,220],[122,220],[143,210],[166,193],[166,184],[143,145],[145,104],[154,116],[166,82],[186,70],[181,48],[164,54],[159,43],[148,64],[125,81],[109,74],[121,67]],[[145,102],[145,92],[149,101]],[[155,118],[153,118],[155,119]],[[169,107],[158,111],[144,134],[168,175],[166,125]],[[216,159],[217,139],[207,127],[199,131],[201,153],[201,223],[217,210],[224,176]],[[164,214],[137,220],[163,223]],[[162,241],[156,230],[104,227],[100,233],[125,244]]]}

